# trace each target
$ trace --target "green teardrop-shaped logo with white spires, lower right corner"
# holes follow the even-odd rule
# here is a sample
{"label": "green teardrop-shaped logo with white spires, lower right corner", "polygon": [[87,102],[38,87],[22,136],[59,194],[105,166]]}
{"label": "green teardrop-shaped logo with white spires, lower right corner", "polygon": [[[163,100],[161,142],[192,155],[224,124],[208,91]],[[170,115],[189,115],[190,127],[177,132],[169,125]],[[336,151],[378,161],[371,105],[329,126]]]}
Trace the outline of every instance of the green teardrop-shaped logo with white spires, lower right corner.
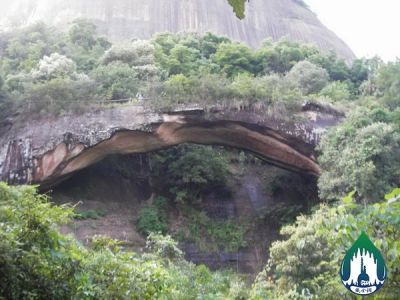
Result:
{"label": "green teardrop-shaped logo with white spires, lower right corner", "polygon": [[347,251],[340,267],[340,276],[345,287],[358,295],[375,293],[383,286],[386,279],[385,261],[365,232]]}

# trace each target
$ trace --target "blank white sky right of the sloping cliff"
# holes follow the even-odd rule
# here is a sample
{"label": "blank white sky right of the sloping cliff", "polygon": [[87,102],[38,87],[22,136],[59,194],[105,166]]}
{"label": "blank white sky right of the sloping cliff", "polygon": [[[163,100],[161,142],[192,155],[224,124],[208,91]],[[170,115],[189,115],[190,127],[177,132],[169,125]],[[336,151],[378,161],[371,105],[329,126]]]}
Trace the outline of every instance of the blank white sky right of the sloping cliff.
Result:
{"label": "blank white sky right of the sloping cliff", "polygon": [[400,58],[400,0],[305,0],[357,57]]}

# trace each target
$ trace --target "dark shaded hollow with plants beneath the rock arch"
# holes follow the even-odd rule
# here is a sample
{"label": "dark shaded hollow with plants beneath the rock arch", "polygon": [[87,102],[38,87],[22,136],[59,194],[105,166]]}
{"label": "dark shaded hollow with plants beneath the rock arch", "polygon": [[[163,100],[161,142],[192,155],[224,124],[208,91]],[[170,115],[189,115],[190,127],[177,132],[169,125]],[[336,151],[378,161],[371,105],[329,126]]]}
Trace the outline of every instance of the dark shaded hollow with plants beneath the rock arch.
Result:
{"label": "dark shaded hollow with plants beneath the rock arch", "polygon": [[170,234],[186,258],[212,269],[255,273],[280,227],[318,201],[316,178],[250,152],[181,144],[111,155],[54,188],[56,203],[79,203],[66,228],[82,241],[105,234],[136,251],[150,230]]}

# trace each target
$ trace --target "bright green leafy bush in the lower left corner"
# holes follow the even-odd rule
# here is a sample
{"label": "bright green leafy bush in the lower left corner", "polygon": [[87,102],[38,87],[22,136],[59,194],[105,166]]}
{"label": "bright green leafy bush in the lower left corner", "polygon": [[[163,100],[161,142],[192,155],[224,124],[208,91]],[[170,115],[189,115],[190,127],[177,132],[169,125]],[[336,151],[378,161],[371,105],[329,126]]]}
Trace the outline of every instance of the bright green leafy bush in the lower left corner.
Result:
{"label": "bright green leafy bush in the lower left corner", "polygon": [[56,224],[72,216],[67,206],[51,205],[34,187],[0,183],[0,295],[7,299],[65,299],[75,291],[77,245]]}

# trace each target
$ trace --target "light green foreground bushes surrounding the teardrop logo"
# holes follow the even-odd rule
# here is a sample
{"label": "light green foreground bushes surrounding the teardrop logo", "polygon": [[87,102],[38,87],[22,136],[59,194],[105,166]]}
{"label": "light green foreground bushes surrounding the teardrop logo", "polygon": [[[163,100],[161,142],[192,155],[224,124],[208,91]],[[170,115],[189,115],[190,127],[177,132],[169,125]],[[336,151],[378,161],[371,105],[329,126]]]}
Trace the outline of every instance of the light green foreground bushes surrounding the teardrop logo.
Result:
{"label": "light green foreground bushes surrounding the teardrop logo", "polygon": [[352,196],[333,207],[321,205],[282,228],[286,239],[274,242],[266,269],[252,289],[252,299],[353,299],[338,270],[348,249],[366,230],[381,250],[389,270],[383,289],[372,296],[396,299],[400,286],[400,189],[374,205],[356,204]]}

